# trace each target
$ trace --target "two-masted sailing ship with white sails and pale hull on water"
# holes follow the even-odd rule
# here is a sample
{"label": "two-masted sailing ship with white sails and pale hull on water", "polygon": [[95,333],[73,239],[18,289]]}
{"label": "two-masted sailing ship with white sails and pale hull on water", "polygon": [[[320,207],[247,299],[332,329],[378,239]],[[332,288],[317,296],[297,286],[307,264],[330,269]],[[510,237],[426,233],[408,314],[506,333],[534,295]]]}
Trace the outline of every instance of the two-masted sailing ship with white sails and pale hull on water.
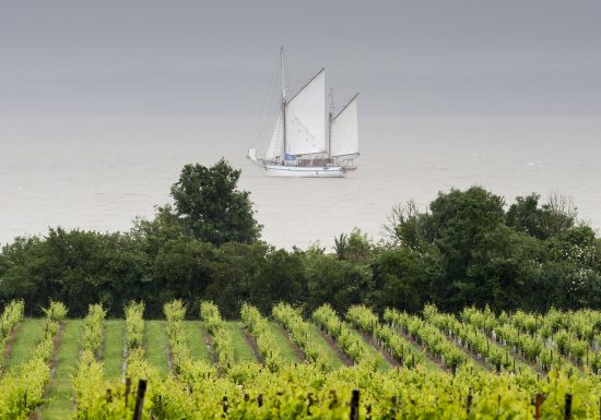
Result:
{"label": "two-masted sailing ship with white sails and pale hull on water", "polygon": [[[326,112],[326,69],[288,97],[284,49],[280,51],[282,96],[271,141],[262,158],[247,157],[275,177],[340,178],[355,170],[358,157],[357,95],[334,113]],[[333,97],[333,95],[330,95]]]}

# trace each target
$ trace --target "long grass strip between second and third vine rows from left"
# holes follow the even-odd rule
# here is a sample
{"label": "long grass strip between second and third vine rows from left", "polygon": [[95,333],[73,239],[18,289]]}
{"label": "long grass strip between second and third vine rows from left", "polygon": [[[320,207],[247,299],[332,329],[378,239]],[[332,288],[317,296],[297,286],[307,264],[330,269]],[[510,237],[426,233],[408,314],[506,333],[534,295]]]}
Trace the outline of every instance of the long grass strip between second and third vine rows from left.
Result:
{"label": "long grass strip between second and third vine rows from left", "polygon": [[47,398],[50,400],[42,410],[44,420],[68,419],[72,408],[71,377],[78,369],[83,320],[68,320],[56,355],[56,371],[50,379]]}

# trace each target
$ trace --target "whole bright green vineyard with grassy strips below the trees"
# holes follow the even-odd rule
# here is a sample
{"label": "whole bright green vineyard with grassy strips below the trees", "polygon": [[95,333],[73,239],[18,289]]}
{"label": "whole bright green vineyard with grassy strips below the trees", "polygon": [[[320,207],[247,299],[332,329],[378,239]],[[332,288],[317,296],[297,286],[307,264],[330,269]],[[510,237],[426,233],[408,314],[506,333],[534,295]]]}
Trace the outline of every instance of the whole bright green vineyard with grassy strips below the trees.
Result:
{"label": "whole bright green vineyard with grassy strips below the trees", "polygon": [[0,319],[4,419],[601,419],[601,312],[419,314],[175,300],[83,320],[13,301]]}

